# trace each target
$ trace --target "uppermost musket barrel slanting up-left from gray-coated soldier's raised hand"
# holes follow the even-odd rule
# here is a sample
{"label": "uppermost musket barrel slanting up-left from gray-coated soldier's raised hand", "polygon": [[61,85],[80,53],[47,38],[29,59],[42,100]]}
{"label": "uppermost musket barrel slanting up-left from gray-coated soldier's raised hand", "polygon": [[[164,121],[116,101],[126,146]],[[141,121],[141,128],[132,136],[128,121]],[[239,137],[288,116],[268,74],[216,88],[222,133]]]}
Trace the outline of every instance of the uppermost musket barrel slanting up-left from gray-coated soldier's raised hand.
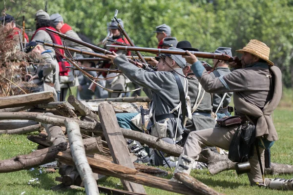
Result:
{"label": "uppermost musket barrel slanting up-left from gray-coated soldier's raised hand", "polygon": [[98,47],[98,46],[92,45],[92,44],[90,44],[90,43],[84,42],[84,41],[79,40],[79,39],[75,39],[75,38],[70,37],[70,36],[67,36],[67,35],[65,35],[65,34],[63,34],[63,33],[59,33],[59,32],[57,32],[57,31],[51,30],[51,29],[49,29],[49,28],[46,28],[46,31],[49,31],[49,32],[51,32],[51,33],[54,33],[54,34],[58,35],[59,37],[61,37],[61,38],[63,38],[63,39],[70,40],[70,41],[72,41],[72,42],[75,42],[75,43],[78,43],[78,44],[83,45],[83,46],[85,46],[85,47],[88,47],[88,48],[94,50],[95,52],[100,52],[100,53],[105,54],[105,55],[106,55],[106,54],[112,55],[112,52],[110,52],[110,51],[108,51],[108,50],[106,50],[106,49],[103,49],[103,48],[101,48],[101,47]]}

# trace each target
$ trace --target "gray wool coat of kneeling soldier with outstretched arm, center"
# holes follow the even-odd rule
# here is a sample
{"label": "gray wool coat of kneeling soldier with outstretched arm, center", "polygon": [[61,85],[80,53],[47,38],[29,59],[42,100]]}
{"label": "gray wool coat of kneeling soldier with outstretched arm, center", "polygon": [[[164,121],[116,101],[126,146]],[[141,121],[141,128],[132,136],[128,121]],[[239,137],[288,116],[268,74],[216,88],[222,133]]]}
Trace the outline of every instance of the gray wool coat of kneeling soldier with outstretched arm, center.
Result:
{"label": "gray wool coat of kneeling soldier with outstretched arm, center", "polygon": [[[132,82],[149,90],[148,96],[151,96],[150,98],[152,99],[153,113],[155,113],[155,116],[168,114],[179,104],[179,89],[174,75],[171,72],[146,71],[128,62],[125,55],[116,57],[114,59],[114,64],[121,69],[125,76]],[[181,68],[175,70],[183,75]],[[181,76],[179,77],[182,85],[184,85],[184,78]],[[173,114],[178,116],[178,110]],[[157,122],[164,123],[165,119]],[[167,119],[167,133],[165,137],[173,138],[175,136],[176,125],[177,117]],[[151,132],[153,133],[153,131],[156,131],[154,125],[151,127]],[[183,125],[181,118],[179,118],[176,137],[180,137],[181,134],[183,134]]]}

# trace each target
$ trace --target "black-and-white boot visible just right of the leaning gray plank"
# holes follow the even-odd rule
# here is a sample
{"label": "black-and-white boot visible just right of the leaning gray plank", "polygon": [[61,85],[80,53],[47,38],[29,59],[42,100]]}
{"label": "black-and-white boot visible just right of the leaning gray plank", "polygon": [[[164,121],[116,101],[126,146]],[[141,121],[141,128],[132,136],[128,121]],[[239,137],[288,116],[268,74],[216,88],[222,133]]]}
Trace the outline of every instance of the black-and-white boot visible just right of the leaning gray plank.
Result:
{"label": "black-and-white boot visible just right of the leaning gray plank", "polygon": [[145,148],[140,144],[140,142],[127,139],[127,147],[130,150],[131,153],[133,153],[135,156],[137,156],[138,163],[147,163],[149,162],[149,157],[146,153]]}

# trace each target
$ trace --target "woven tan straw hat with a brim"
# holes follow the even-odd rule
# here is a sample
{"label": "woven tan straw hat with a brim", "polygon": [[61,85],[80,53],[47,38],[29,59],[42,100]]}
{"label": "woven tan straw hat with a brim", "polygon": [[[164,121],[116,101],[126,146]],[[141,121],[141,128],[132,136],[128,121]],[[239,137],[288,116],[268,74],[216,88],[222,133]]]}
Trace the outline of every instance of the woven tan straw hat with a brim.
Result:
{"label": "woven tan straw hat with a brim", "polygon": [[270,56],[270,47],[268,47],[265,43],[252,39],[249,43],[243,47],[243,49],[236,50],[243,54],[244,52],[250,53],[254,56],[257,56],[260,59],[266,60],[270,65],[274,65],[272,61],[269,60]]}

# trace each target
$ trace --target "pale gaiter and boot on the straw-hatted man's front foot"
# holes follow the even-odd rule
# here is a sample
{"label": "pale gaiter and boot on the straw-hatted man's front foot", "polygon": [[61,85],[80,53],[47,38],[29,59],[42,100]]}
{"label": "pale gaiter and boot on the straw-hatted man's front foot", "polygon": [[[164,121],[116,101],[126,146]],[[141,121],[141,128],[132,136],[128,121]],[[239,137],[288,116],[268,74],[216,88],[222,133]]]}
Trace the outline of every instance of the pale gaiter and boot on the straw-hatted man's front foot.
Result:
{"label": "pale gaiter and boot on the straw-hatted man's front foot", "polygon": [[[178,163],[177,163],[177,165],[175,167],[175,170],[174,170],[173,174],[179,172],[179,173],[186,173],[186,174],[189,175],[190,171],[191,171],[191,169],[193,167],[194,162],[195,162],[194,159],[192,159],[192,158],[190,158],[190,157],[188,157],[186,155],[181,154],[179,156]],[[178,180],[174,176],[171,178],[171,181],[177,181],[178,182]]]}

